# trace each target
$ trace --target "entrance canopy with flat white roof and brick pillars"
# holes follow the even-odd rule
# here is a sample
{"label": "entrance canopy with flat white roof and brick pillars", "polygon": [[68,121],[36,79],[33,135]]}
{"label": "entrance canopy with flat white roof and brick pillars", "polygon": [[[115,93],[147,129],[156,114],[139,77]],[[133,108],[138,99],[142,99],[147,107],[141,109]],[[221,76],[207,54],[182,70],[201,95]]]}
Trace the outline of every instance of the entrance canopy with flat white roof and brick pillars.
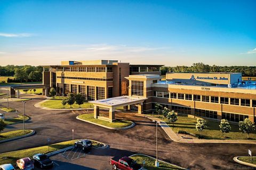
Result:
{"label": "entrance canopy with flat white roof and brick pillars", "polygon": [[[109,122],[113,122],[113,120],[115,120],[115,108],[127,107],[133,104],[137,104],[138,112],[141,114],[143,110],[143,101],[145,101],[146,99],[147,98],[125,95],[125,96],[119,96],[116,98],[89,101],[89,103],[92,103],[94,106],[94,118],[105,119]],[[109,118],[102,118],[99,116],[99,107],[109,109]]]}

